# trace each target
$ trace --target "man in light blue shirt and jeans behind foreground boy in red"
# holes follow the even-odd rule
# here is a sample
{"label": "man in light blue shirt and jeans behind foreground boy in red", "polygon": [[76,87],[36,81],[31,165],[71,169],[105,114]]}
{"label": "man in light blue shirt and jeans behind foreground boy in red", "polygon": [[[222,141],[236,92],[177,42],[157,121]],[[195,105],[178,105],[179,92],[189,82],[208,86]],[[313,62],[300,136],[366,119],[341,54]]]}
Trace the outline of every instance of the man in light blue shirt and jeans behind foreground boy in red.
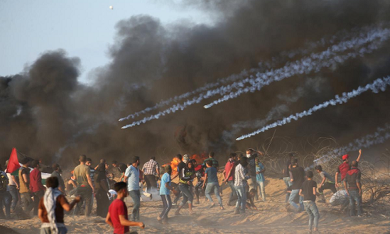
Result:
{"label": "man in light blue shirt and jeans behind foreground boy in red", "polygon": [[[140,165],[140,157],[134,156],[133,162],[126,169],[124,173],[123,182],[127,183],[127,188],[131,199],[133,199],[133,211],[130,215],[131,221],[140,220],[140,206],[141,206],[141,193],[140,193],[140,170],[138,166]],[[127,196],[127,194],[126,194]],[[127,209],[126,209],[127,210]]]}

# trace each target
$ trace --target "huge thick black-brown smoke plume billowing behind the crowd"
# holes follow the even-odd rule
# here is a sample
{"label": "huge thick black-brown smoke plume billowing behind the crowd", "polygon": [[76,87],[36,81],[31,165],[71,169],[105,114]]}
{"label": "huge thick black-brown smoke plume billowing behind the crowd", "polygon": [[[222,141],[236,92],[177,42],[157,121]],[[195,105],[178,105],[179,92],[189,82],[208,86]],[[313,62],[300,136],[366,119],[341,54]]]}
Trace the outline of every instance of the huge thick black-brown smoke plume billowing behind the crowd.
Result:
{"label": "huge thick black-brown smoke plume billowing behind the crowd", "polygon": [[[389,4],[380,0],[201,1],[188,5],[185,7],[211,9],[206,12],[215,16],[215,24],[183,21],[163,25],[150,16],[129,16],[117,23],[117,35],[108,49],[111,60],[94,69],[94,82],[89,86],[78,82],[83,61],[69,57],[64,50],[43,52],[20,74],[0,77],[2,159],[9,156],[12,147],[47,163],[60,159],[60,163],[69,164],[79,154],[87,154],[95,162],[99,158],[128,162],[131,155],[142,160],[150,155],[170,159],[177,153],[210,150],[224,155],[227,148],[220,142],[223,131],[239,121],[266,118],[278,105],[277,95],[300,87],[307,74],[294,73],[261,91],[248,92],[207,110],[202,106],[211,100],[200,100],[199,105],[137,128],[121,130],[121,126],[129,124],[128,119],[138,121],[135,118],[144,114],[143,110],[156,115],[176,101],[240,82],[251,74],[276,71],[349,40],[339,36],[332,41],[335,35],[352,33],[361,38],[366,35],[364,28],[388,30],[386,23],[390,20]],[[359,48],[370,50],[377,39]],[[317,43],[321,41],[324,43]],[[315,46],[310,46],[313,43]],[[337,93],[388,76],[389,48],[388,41],[383,41],[380,50],[371,48],[370,53],[338,52],[340,57],[355,52],[359,56],[320,69],[316,76],[327,79],[331,88],[300,98],[288,112],[308,109]],[[227,77],[235,78],[193,93]],[[175,99],[186,93],[188,97]],[[286,125],[278,135],[322,132],[349,142],[354,135],[365,135],[388,121],[389,96],[389,92],[367,93],[335,112]],[[216,97],[223,96],[218,93]],[[134,116],[117,121],[129,113]],[[267,137],[269,133],[259,136]],[[259,138],[233,143],[232,149],[254,146]]]}

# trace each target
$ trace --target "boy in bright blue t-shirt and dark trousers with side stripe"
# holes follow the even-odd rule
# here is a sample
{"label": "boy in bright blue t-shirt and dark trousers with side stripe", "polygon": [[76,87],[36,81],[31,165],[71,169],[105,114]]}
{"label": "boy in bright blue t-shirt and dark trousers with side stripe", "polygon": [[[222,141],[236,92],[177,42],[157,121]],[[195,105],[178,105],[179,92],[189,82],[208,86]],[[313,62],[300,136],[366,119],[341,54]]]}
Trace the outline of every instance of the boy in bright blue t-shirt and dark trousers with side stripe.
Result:
{"label": "boy in bright blue t-shirt and dark trousers with side stripe", "polygon": [[163,202],[163,211],[161,211],[161,214],[157,217],[157,220],[159,222],[161,221],[163,224],[168,224],[168,213],[172,208],[172,200],[170,199],[170,190],[172,190],[171,174],[172,168],[170,165],[167,165],[165,167],[165,173],[161,177],[160,184],[160,196],[161,201]]}

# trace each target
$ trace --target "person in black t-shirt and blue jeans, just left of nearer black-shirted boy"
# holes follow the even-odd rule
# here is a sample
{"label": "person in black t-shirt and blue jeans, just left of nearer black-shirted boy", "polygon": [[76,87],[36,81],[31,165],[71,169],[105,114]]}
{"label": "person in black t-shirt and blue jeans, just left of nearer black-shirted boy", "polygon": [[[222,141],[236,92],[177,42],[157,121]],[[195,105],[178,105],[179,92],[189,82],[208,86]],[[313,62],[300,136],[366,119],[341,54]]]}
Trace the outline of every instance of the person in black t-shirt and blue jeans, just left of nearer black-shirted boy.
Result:
{"label": "person in black t-shirt and blue jeans, just left of nearer black-shirted boy", "polygon": [[291,173],[291,195],[289,198],[289,203],[299,212],[303,211],[303,197],[299,199],[299,206],[294,202],[295,197],[299,196],[299,191],[302,187],[303,181],[305,181],[305,169],[303,167],[298,166],[298,159],[294,159],[291,162],[292,168],[290,170]]}

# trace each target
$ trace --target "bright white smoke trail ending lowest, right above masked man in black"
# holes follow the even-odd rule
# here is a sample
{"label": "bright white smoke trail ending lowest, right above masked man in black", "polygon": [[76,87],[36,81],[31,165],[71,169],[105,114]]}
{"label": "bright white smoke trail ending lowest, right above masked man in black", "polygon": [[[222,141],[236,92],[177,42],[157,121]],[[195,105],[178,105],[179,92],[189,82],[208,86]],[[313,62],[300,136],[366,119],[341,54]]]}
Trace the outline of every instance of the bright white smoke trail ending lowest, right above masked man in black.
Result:
{"label": "bright white smoke trail ending lowest, right above masked man in black", "polygon": [[269,129],[276,128],[277,126],[283,126],[285,124],[288,124],[289,122],[295,120],[297,121],[298,119],[301,119],[305,116],[312,115],[314,112],[317,112],[323,108],[326,108],[328,106],[335,106],[337,104],[344,104],[346,103],[349,99],[359,96],[363,92],[367,92],[368,90],[372,90],[374,93],[378,93],[379,90],[385,91],[386,86],[390,85],[390,76],[387,76],[383,79],[379,78],[376,79],[374,82],[371,84],[367,84],[364,87],[358,87],[358,89],[352,90],[351,92],[343,93],[342,96],[340,97],[339,95],[336,95],[334,99],[330,99],[329,101],[326,101],[324,103],[321,103],[319,105],[313,106],[312,108],[305,110],[300,113],[296,113],[294,115],[290,115],[289,117],[285,117],[282,120],[276,121],[272,124],[269,124],[267,126],[264,126],[261,129],[258,129],[252,133],[242,135],[241,137],[238,137],[236,140],[243,140],[245,138],[253,137],[254,135],[257,135],[259,133],[265,132]]}

